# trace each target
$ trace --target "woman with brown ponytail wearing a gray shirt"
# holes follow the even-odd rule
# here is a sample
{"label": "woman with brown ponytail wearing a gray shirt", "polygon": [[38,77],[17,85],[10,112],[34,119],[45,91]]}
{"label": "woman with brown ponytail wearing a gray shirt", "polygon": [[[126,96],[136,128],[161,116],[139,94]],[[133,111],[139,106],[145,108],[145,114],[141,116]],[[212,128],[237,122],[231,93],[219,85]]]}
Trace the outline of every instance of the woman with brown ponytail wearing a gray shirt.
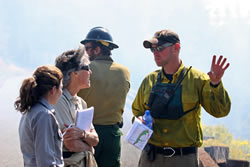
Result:
{"label": "woman with brown ponytail wearing a gray shirt", "polygon": [[19,124],[24,167],[61,167],[62,134],[55,118],[54,105],[62,94],[61,71],[55,66],[41,66],[23,81],[15,109]]}

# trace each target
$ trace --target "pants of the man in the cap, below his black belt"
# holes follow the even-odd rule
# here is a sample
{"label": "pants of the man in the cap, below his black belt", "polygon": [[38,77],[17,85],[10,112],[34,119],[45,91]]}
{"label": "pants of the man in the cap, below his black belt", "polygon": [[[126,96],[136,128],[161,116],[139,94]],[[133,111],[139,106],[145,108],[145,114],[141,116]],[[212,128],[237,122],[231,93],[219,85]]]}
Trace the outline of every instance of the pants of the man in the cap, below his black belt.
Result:
{"label": "pants of the man in the cap, below his black belt", "polygon": [[139,167],[198,167],[198,155],[188,154],[183,156],[164,157],[162,154],[156,154],[155,160],[150,161],[147,158],[147,152],[142,151]]}

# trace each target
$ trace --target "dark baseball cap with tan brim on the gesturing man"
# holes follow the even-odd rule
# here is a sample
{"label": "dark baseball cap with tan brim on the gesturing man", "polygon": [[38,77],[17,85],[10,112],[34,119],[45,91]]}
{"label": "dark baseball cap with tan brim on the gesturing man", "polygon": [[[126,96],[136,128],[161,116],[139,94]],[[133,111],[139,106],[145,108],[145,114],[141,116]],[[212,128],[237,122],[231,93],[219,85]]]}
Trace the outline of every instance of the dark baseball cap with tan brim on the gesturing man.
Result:
{"label": "dark baseball cap with tan brim on the gesturing man", "polygon": [[157,31],[152,39],[143,42],[143,46],[145,48],[152,48],[152,45],[161,46],[165,43],[180,43],[178,34],[171,30]]}

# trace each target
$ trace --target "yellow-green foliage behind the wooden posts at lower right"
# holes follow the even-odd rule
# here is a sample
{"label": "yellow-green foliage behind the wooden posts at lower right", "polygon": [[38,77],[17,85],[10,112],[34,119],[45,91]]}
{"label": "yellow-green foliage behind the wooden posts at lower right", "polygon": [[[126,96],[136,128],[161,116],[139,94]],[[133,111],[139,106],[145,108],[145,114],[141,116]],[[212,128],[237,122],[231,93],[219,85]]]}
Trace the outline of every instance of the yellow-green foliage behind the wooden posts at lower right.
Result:
{"label": "yellow-green foliage behind the wooden posts at lower right", "polygon": [[205,140],[203,147],[227,146],[229,147],[229,158],[250,161],[250,141],[234,139],[233,135],[224,126],[204,126],[203,135],[214,137]]}

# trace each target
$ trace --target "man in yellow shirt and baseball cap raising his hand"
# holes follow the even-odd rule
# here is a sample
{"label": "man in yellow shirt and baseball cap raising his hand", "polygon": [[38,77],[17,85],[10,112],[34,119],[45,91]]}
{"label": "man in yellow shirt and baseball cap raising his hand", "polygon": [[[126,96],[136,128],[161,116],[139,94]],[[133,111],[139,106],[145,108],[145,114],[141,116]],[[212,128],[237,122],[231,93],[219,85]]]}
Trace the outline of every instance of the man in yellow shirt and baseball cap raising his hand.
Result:
{"label": "man in yellow shirt and baseball cap raising his hand", "polygon": [[[153,117],[153,135],[142,151],[140,167],[196,167],[197,147],[202,145],[201,107],[214,117],[226,116],[231,101],[221,78],[229,67],[226,58],[213,56],[208,75],[185,67],[179,36],[161,30],[143,42],[154,54],[157,66],[143,80],[132,104],[142,120],[145,110]],[[143,120],[142,120],[143,121]]]}

